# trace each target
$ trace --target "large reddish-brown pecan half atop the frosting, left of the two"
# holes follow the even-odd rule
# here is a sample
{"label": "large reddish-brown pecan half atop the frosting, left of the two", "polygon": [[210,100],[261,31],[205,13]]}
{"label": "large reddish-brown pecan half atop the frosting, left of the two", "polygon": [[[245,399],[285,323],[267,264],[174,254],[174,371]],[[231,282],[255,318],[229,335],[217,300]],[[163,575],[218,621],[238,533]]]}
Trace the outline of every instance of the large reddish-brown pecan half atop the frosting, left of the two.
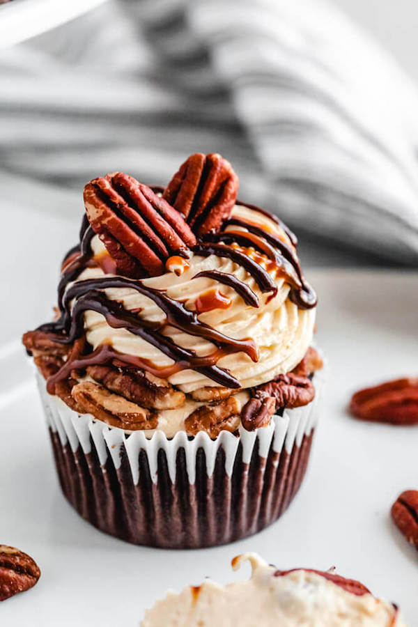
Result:
{"label": "large reddish-brown pecan half atop the frosting, left of the two", "polygon": [[129,277],[163,274],[173,251],[196,243],[178,211],[127,174],[91,180],[84,187],[84,204],[118,272]]}

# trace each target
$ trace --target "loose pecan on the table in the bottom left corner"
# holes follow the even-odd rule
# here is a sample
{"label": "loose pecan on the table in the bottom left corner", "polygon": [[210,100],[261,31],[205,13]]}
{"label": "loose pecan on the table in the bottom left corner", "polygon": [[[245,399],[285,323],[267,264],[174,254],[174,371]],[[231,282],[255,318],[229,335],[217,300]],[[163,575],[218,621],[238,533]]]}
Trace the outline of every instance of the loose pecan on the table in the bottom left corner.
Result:
{"label": "loose pecan on the table in the bottom left corner", "polygon": [[29,555],[0,544],[0,601],[29,590],[39,578],[40,570]]}

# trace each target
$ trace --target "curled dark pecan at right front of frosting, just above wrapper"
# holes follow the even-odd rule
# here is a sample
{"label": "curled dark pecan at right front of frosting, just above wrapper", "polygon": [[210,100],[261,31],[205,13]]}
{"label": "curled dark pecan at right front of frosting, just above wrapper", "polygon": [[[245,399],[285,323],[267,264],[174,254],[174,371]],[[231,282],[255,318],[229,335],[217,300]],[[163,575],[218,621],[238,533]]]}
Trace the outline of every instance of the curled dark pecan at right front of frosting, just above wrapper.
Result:
{"label": "curled dark pecan at right front of frosting, just above wrapper", "polygon": [[279,408],[295,408],[314,400],[315,387],[311,380],[289,372],[254,388],[242,410],[242,426],[254,431],[270,422]]}

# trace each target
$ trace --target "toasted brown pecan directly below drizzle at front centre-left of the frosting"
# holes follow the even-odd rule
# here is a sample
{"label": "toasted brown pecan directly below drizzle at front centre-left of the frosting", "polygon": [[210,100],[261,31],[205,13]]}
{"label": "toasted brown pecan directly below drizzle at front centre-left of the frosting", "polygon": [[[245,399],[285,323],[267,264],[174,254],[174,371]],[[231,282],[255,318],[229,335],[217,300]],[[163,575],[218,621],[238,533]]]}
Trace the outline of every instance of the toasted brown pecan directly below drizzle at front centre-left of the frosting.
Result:
{"label": "toasted brown pecan directly below drizzle at front centre-left of the frosting", "polygon": [[174,389],[167,381],[160,380],[157,385],[141,371],[123,372],[111,366],[88,366],[87,374],[112,392],[145,408],[176,409],[185,402],[184,392]]}

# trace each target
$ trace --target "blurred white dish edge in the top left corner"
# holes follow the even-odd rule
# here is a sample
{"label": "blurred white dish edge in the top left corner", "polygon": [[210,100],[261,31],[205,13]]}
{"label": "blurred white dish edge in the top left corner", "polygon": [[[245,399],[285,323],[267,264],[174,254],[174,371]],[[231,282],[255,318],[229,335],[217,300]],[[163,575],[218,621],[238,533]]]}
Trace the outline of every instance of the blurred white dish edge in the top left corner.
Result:
{"label": "blurred white dish edge in the top left corner", "polygon": [[105,0],[12,0],[0,5],[0,48],[45,33]]}

